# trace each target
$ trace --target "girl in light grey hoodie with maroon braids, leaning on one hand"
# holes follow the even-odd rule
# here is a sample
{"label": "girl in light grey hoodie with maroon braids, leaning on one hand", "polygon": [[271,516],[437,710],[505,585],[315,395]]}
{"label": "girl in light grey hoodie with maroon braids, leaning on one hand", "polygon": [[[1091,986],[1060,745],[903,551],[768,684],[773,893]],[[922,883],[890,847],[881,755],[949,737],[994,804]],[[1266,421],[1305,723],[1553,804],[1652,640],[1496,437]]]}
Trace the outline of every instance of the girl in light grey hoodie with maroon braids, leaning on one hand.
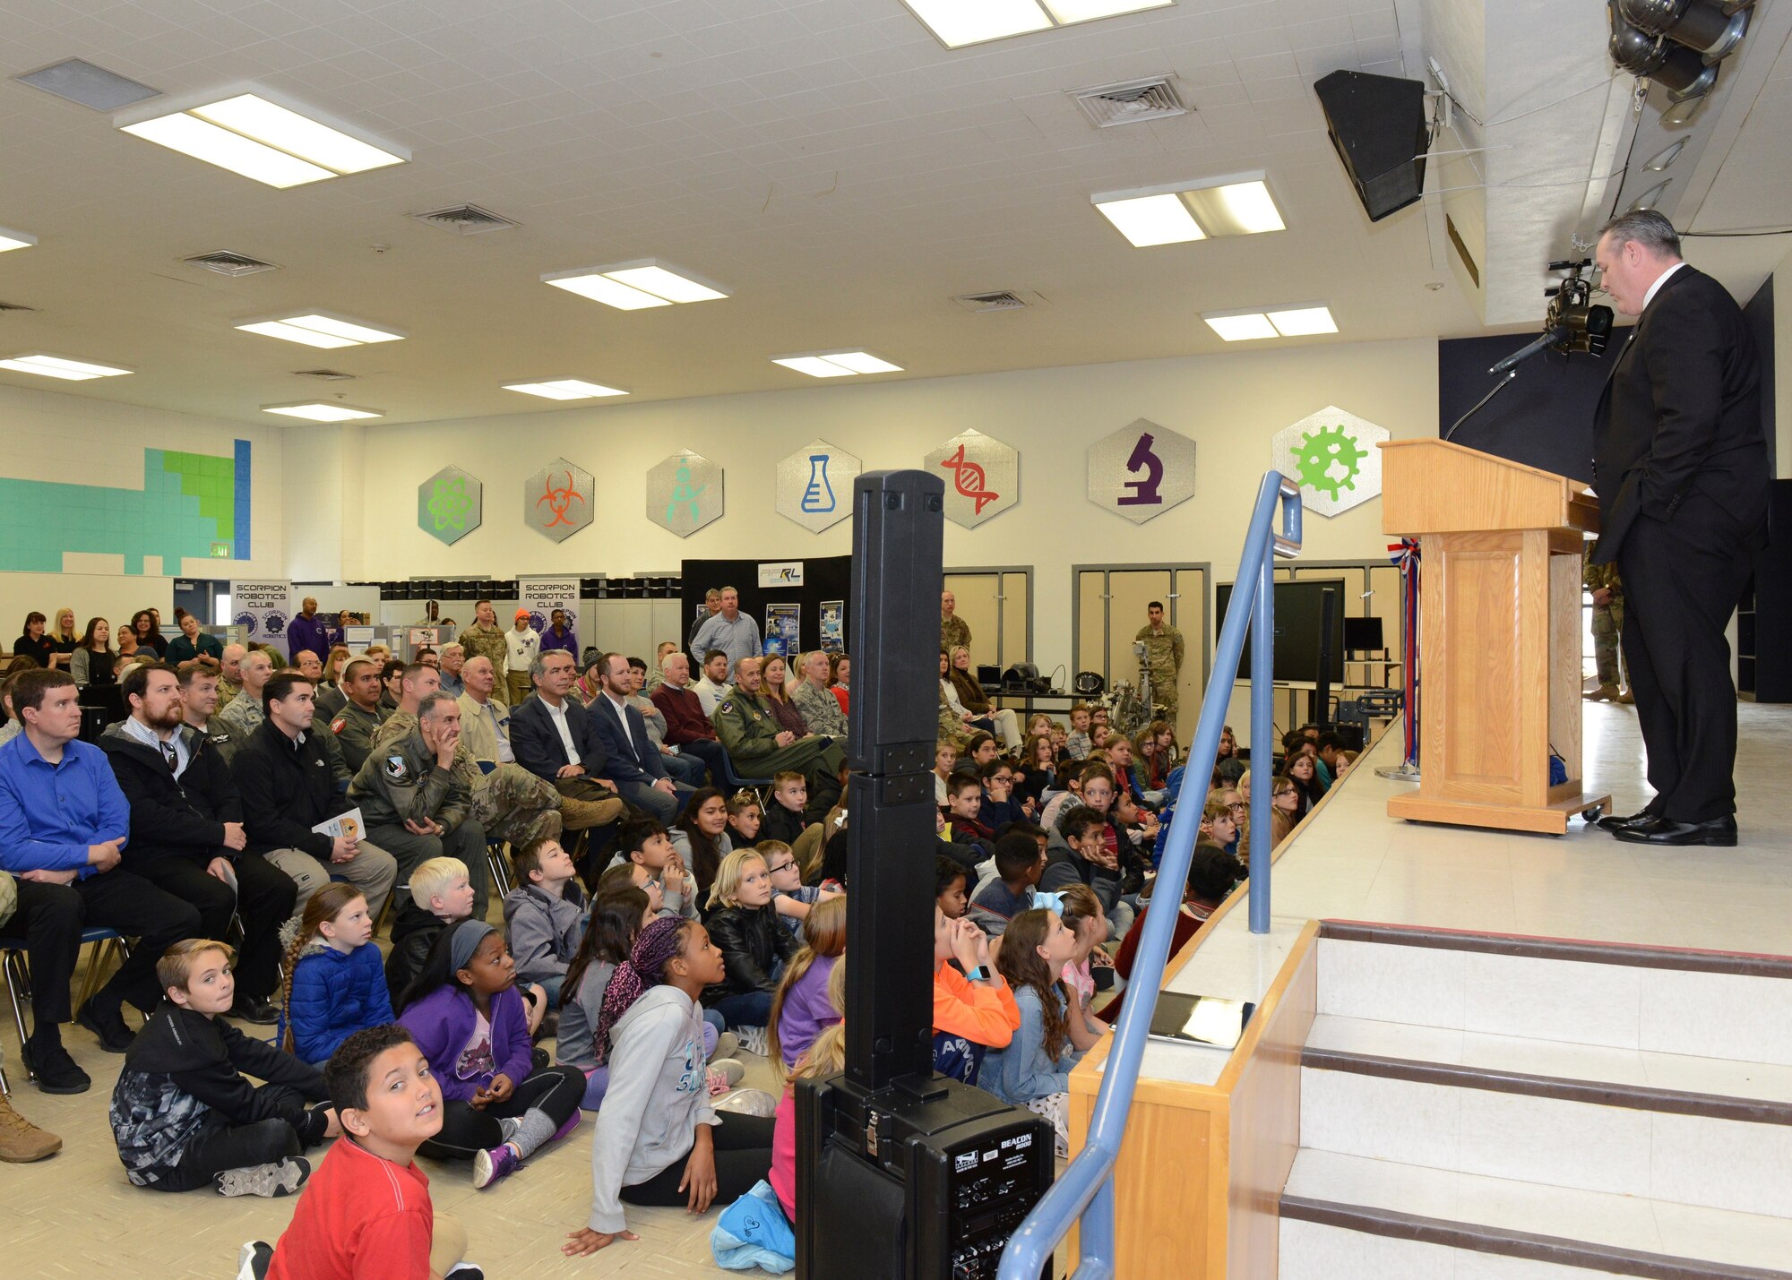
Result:
{"label": "girl in light grey hoodie with maroon braids, leaning on one hand", "polygon": [[724,977],[720,950],[688,920],[650,923],[611,975],[597,1027],[611,1043],[611,1085],[591,1142],[591,1215],[561,1253],[640,1239],[624,1201],[702,1214],[771,1172],[772,1122],[710,1106],[697,997]]}

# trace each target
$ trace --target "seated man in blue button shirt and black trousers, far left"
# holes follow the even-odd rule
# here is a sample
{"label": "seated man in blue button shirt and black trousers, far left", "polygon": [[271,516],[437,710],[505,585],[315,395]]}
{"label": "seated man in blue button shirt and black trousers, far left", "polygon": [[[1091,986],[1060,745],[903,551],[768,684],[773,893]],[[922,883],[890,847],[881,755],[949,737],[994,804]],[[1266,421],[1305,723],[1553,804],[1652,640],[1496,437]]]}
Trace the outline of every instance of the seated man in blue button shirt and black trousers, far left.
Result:
{"label": "seated man in blue button shirt and black trousers, far left", "polygon": [[75,1020],[122,1054],[134,1033],[122,1004],[143,1015],[161,1004],[156,961],[199,934],[199,911],[149,880],[118,869],[131,812],[106,753],[81,735],[75,681],[61,670],[29,670],[13,687],[25,731],[0,746],[0,868],[18,880],[18,916],[9,930],[27,939],[36,1029],[25,1059],[38,1086],[81,1094],[90,1081],[57,1038],[68,1022],[68,981],[81,929],[104,925],[138,939],[124,966]]}

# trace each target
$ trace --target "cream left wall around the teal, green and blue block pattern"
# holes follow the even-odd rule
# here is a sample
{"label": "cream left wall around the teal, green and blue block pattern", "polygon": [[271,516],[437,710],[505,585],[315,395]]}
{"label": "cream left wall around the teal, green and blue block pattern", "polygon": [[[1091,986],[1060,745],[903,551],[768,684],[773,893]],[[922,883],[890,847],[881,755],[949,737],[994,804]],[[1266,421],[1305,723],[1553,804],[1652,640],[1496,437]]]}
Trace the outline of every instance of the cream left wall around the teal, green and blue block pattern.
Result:
{"label": "cream left wall around the teal, green and blue block pattern", "polygon": [[[161,565],[147,558],[142,574],[125,574],[122,556],[66,552],[59,574],[0,570],[0,627],[5,627],[0,645],[11,647],[30,610],[54,620],[66,604],[75,610],[77,626],[97,615],[116,627],[142,608],[158,608],[167,620],[174,617],[176,575],[278,577],[287,563],[281,428],[0,385],[0,477],[7,480],[142,489],[145,448],[229,457],[238,439],[253,445],[251,559],[186,558]],[[4,536],[14,534],[0,527]]]}

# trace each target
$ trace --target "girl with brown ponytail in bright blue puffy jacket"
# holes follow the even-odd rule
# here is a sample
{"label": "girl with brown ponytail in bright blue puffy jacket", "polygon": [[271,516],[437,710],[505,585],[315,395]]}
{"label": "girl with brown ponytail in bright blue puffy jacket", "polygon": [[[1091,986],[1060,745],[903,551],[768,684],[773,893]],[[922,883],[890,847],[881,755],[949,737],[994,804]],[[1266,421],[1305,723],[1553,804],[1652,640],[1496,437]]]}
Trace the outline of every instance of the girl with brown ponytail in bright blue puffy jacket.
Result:
{"label": "girl with brown ponytail in bright blue puffy jacket", "polygon": [[280,1045],[321,1067],[351,1034],[387,1022],[392,997],[367,900],[353,884],[328,884],[305,904],[287,948]]}

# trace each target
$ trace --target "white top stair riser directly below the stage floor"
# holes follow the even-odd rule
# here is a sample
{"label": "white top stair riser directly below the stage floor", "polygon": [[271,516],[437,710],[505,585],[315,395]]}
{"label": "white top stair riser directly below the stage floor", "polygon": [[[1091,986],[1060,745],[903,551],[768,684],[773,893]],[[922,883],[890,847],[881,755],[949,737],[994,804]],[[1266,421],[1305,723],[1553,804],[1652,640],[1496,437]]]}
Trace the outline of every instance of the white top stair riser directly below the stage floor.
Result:
{"label": "white top stair riser directly below the stage floor", "polygon": [[1319,1013],[1792,1065],[1792,981],[1319,939]]}

